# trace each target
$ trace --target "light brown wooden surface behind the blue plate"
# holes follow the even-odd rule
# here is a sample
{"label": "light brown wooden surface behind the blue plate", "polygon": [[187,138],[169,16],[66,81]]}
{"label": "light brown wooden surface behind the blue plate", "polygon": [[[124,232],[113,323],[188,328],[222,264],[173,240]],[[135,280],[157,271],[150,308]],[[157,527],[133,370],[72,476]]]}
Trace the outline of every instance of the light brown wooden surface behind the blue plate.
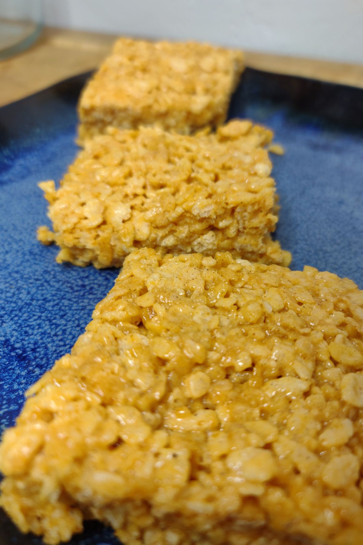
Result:
{"label": "light brown wooden surface behind the blue plate", "polygon": [[[0,62],[0,106],[36,93],[57,81],[96,68],[114,35],[45,28],[27,51]],[[363,88],[363,65],[245,52],[246,65]]]}

